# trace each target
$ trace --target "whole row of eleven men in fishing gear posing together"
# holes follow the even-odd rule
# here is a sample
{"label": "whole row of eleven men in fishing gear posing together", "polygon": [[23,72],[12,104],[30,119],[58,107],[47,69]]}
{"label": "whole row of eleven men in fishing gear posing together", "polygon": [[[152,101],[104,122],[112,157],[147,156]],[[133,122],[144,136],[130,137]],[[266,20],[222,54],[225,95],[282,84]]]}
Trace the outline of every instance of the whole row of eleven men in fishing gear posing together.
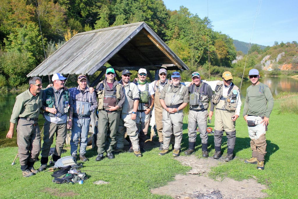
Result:
{"label": "whole row of eleven men in fishing gear posing together", "polygon": [[[147,137],[150,112],[155,110],[156,129],[159,136],[159,155],[169,152],[173,145],[173,156],[181,152],[183,109],[190,104],[188,115],[189,148],[184,152],[190,155],[195,151],[197,128],[200,132],[202,156],[207,158],[208,134],[207,118],[210,120],[215,111],[213,158],[221,157],[223,133],[227,135],[227,156],[231,161],[236,140],[235,121],[240,115],[239,88],[233,84],[232,74],[222,74],[213,93],[210,85],[201,81],[198,72],[192,73],[192,82],[187,87],[181,83],[179,72],[173,72],[168,80],[167,70],[159,70],[159,80],[147,82],[147,71],[139,69],[137,81],[131,82],[132,73],[122,71],[121,81],[115,80],[116,73],[108,68],[105,79],[95,88],[88,88],[86,75],[77,78],[78,87],[66,89],[66,78],[59,73],[52,76],[53,85],[42,90],[41,78],[29,80],[29,90],[16,97],[15,106],[10,119],[7,138],[12,138],[17,124],[17,144],[21,170],[24,177],[30,177],[47,167],[50,146],[56,135],[56,147],[53,161],[57,161],[65,144],[67,129],[72,128],[70,140],[71,155],[77,156],[80,143],[79,158],[86,158],[86,146],[89,132],[90,115],[98,109],[98,133],[96,161],[106,157],[114,158],[114,153],[123,152],[125,133],[129,136],[131,148],[129,152],[141,157]],[[252,85],[247,89],[243,117],[248,124],[252,158],[245,163],[257,164],[257,169],[264,169],[266,154],[266,129],[270,113],[273,109],[273,98],[269,88],[259,82],[259,72],[249,71]],[[97,97],[98,101],[97,101]],[[208,112],[210,104],[210,111]],[[44,143],[41,147],[38,115],[43,113]],[[33,165],[41,151],[41,166],[35,170]]]}

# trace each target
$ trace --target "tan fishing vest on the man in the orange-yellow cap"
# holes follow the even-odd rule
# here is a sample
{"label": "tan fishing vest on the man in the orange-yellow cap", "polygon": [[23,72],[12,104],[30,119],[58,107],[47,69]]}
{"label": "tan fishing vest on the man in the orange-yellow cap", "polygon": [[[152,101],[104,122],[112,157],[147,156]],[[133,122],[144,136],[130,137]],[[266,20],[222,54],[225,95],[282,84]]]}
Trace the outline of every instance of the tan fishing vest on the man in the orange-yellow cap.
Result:
{"label": "tan fishing vest on the man in the orange-yellow cap", "polygon": [[232,82],[232,85],[228,91],[228,95],[223,96],[223,86],[224,85],[222,82],[217,83],[215,87],[215,93],[212,95],[212,102],[216,105],[216,109],[235,112],[239,88]]}

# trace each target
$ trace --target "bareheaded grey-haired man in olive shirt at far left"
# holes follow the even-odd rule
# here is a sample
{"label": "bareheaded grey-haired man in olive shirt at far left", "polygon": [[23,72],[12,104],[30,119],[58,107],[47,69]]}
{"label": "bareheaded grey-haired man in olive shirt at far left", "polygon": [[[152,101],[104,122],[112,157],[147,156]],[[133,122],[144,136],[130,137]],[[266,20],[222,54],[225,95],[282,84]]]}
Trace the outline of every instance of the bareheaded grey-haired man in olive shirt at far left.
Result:
{"label": "bareheaded grey-haired man in olive shirt at far left", "polygon": [[28,90],[15,98],[15,105],[10,117],[10,128],[6,135],[6,138],[13,138],[13,131],[17,124],[18,155],[24,177],[38,173],[33,165],[41,150],[38,126],[38,116],[42,107],[41,78],[30,78],[29,86]]}

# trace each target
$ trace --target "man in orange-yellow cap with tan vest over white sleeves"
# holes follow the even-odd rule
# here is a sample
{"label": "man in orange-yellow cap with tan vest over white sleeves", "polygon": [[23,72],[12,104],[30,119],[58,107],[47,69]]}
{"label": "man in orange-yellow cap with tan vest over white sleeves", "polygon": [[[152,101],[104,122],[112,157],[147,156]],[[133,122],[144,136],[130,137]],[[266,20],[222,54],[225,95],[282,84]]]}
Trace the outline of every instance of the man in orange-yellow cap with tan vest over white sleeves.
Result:
{"label": "man in orange-yellow cap with tan vest over white sleeves", "polygon": [[215,105],[214,122],[214,159],[221,157],[221,141],[226,132],[228,152],[225,161],[233,159],[233,151],[236,141],[235,121],[240,115],[241,99],[239,88],[232,82],[231,72],[226,71],[222,75],[221,82],[215,87],[215,93],[212,96],[212,102]]}

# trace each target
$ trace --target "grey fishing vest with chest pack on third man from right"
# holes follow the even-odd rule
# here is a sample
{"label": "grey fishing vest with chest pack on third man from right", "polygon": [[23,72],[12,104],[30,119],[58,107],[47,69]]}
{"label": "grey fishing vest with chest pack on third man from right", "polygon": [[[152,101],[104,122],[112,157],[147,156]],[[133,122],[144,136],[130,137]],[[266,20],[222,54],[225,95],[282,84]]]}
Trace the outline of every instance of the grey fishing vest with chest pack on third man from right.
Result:
{"label": "grey fishing vest with chest pack on third man from right", "polygon": [[195,84],[190,86],[189,104],[192,109],[208,109],[209,94],[207,92],[207,86],[207,83],[201,81],[199,92],[196,92]]}

